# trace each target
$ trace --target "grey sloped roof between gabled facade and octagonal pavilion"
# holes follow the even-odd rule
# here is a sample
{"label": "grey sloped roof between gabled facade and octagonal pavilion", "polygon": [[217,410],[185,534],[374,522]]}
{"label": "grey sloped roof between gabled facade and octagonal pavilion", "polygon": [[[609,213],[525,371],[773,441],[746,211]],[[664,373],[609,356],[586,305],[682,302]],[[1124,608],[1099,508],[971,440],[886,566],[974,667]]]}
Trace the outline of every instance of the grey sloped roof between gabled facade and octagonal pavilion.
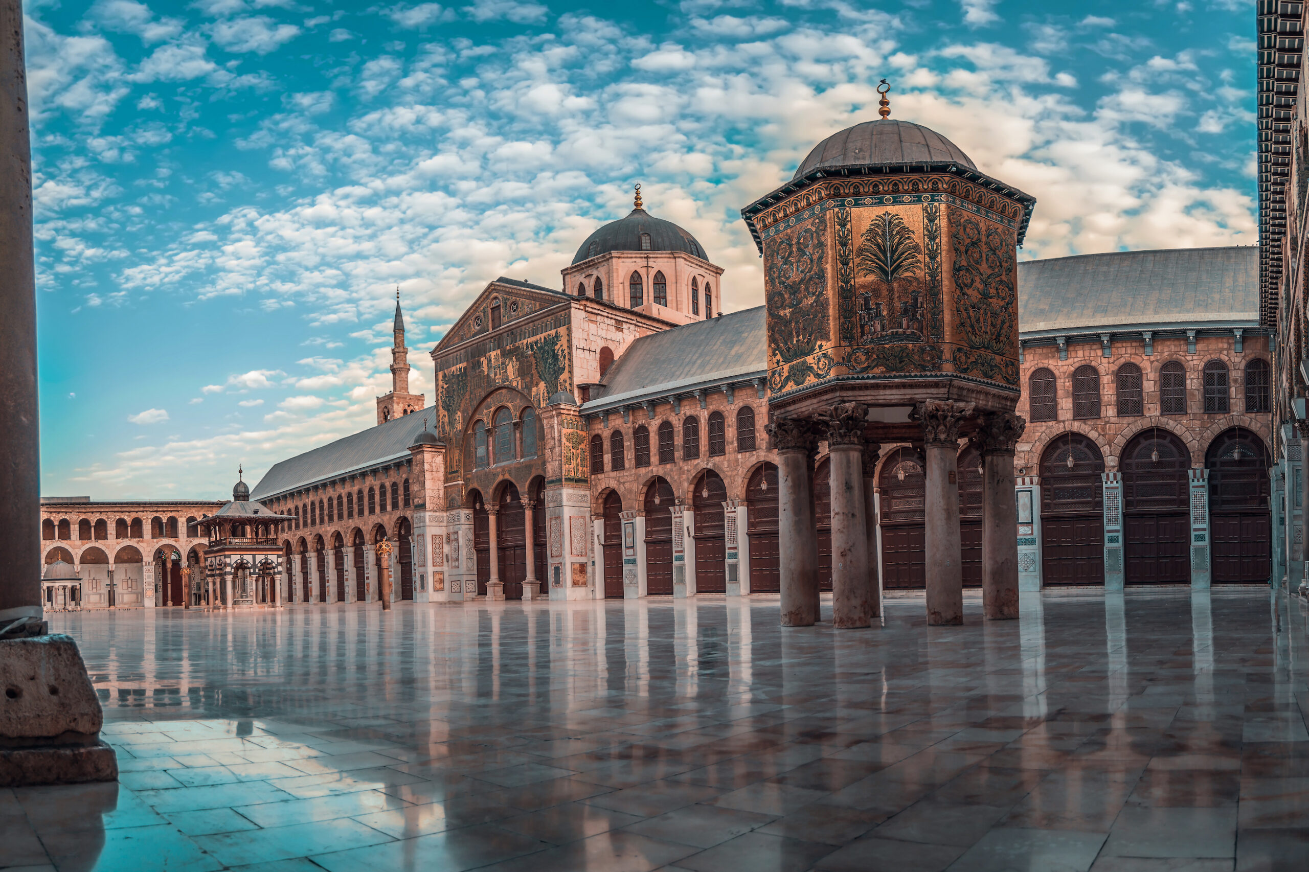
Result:
{"label": "grey sloped roof between gabled facade and octagonal pavilion", "polygon": [[602,393],[592,393],[593,399],[583,409],[603,409],[665,388],[685,390],[696,384],[764,374],[767,346],[763,306],[652,333],[627,347],[601,380]]}

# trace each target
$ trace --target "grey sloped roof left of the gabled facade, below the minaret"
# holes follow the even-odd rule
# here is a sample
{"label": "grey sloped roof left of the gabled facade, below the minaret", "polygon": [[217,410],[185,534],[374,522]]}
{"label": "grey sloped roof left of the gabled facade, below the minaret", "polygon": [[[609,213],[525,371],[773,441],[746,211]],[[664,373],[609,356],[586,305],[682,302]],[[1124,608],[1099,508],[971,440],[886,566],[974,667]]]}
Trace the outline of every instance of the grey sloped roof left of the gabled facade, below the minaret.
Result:
{"label": "grey sloped roof left of the gabled facade, below the minaret", "polygon": [[408,446],[423,431],[424,418],[428,426],[436,422],[435,405],[274,463],[272,469],[264,473],[259,483],[255,484],[250,499],[267,499],[274,494],[365,469],[374,463],[404,460],[410,456]]}

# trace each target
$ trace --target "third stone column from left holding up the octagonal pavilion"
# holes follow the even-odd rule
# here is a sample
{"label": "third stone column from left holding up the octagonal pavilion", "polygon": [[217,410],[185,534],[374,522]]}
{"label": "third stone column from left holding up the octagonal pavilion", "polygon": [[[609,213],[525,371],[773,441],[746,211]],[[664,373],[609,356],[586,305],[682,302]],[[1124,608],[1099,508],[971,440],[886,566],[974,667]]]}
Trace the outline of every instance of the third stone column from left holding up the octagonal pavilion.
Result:
{"label": "third stone column from left holding up the octagonal pavilion", "polygon": [[963,551],[959,545],[959,484],[956,456],[959,424],[973,416],[973,403],[928,399],[911,418],[923,423],[927,478],[924,543],[927,546],[927,623],[963,623]]}

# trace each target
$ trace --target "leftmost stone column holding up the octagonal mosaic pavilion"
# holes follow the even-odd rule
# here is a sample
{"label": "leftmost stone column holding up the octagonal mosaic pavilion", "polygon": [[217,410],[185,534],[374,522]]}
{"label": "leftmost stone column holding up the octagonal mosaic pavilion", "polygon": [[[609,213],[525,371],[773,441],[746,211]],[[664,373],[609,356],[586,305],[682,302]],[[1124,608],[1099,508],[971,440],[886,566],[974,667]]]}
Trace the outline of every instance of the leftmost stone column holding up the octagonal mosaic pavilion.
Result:
{"label": "leftmost stone column holding up the octagonal mosaic pavilion", "polygon": [[818,534],[813,513],[809,423],[778,418],[767,426],[778,452],[778,562],[781,626],[810,627],[818,621]]}

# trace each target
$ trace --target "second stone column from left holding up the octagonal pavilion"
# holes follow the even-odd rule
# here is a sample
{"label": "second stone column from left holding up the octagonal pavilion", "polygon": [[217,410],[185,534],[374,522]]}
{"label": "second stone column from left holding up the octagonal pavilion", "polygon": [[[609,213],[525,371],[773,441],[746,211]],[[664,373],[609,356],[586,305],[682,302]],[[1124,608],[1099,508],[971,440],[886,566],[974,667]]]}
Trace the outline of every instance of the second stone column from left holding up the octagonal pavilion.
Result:
{"label": "second stone column from left holding up the octagonal pavilion", "polygon": [[872,623],[868,587],[868,520],[864,505],[863,403],[836,403],[823,418],[831,457],[831,623]]}

